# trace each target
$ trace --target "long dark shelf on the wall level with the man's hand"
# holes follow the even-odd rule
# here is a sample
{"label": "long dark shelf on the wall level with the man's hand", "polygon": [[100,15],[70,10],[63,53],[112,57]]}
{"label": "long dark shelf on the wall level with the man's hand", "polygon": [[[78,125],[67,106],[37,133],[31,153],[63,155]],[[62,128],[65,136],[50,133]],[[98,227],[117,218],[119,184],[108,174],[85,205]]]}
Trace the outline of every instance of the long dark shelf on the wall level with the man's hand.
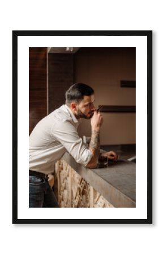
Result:
{"label": "long dark shelf on the wall level with the man's hand", "polygon": [[[100,106],[98,106],[100,108]],[[103,106],[101,112],[136,112],[136,106]]]}

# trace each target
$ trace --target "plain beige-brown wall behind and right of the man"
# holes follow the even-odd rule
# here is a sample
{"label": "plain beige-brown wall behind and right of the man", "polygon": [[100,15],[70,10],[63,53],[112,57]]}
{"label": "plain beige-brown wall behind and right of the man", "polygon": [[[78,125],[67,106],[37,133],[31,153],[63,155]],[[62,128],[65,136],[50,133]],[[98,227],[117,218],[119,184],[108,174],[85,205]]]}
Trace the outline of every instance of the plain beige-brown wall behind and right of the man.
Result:
{"label": "plain beige-brown wall behind and right of the man", "polygon": [[[75,55],[74,81],[94,89],[98,105],[135,105],[135,88],[121,88],[120,80],[136,80],[135,48],[81,48]],[[102,113],[101,144],[136,142],[135,113]],[[90,136],[90,121],[82,121],[79,134]]]}

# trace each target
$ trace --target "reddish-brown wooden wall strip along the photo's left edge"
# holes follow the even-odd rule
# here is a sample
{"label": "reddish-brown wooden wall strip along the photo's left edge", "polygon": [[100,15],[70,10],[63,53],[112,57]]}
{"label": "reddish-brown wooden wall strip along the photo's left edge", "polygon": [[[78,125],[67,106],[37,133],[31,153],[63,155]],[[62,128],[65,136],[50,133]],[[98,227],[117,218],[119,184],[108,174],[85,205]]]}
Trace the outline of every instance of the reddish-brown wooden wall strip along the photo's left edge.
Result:
{"label": "reddish-brown wooden wall strip along the photo's left edge", "polygon": [[46,115],[47,48],[29,48],[29,134]]}

